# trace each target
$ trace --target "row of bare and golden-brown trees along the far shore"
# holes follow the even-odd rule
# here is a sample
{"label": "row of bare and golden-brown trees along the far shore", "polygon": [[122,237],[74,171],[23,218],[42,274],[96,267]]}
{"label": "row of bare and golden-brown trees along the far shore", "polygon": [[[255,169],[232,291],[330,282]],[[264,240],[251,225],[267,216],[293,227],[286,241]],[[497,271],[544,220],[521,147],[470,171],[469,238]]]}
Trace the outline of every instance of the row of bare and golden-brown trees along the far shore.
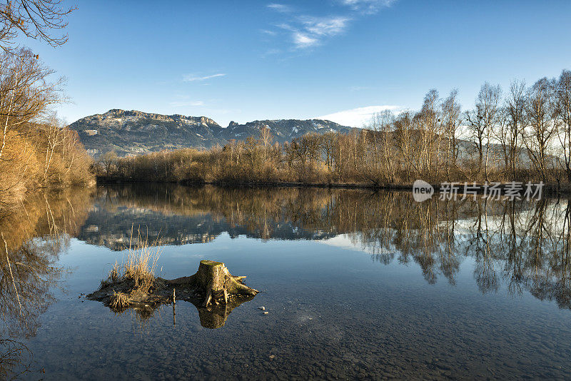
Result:
{"label": "row of bare and golden-brown trees along the far shore", "polygon": [[544,181],[571,183],[571,71],[504,94],[484,83],[463,111],[458,91],[426,93],[420,111],[377,113],[350,133],[310,133],[274,143],[271,130],[201,151],[181,149],[94,166],[107,179],[214,183]]}

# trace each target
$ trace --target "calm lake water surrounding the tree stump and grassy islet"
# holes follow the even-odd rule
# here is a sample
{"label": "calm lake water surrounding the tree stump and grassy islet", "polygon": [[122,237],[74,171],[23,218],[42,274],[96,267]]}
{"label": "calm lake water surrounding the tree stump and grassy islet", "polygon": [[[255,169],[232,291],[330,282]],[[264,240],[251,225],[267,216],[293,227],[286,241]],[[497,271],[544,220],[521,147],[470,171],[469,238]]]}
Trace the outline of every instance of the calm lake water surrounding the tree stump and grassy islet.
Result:
{"label": "calm lake water surrounding the tree stump and grassy islet", "polygon": [[[37,195],[0,222],[0,379],[568,380],[570,221],[566,199],[153,184]],[[183,301],[174,325],[171,305],[149,316],[86,300],[133,227],[161,240],[163,278],[212,259],[263,292],[216,329]]]}

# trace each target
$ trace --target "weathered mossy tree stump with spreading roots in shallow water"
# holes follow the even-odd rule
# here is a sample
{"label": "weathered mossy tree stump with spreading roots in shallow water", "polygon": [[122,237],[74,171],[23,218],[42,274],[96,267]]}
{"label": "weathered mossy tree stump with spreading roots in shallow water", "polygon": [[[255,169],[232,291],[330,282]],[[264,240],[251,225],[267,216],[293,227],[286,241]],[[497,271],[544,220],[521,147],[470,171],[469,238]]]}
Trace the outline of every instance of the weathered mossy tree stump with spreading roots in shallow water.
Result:
{"label": "weathered mossy tree stump with spreading roots in shallow water", "polygon": [[230,295],[254,296],[258,290],[244,285],[245,276],[232,275],[224,263],[214,260],[201,260],[196,274],[189,277],[177,278],[169,281],[171,285],[188,284],[191,288],[205,295],[204,306],[213,302],[228,303]]}

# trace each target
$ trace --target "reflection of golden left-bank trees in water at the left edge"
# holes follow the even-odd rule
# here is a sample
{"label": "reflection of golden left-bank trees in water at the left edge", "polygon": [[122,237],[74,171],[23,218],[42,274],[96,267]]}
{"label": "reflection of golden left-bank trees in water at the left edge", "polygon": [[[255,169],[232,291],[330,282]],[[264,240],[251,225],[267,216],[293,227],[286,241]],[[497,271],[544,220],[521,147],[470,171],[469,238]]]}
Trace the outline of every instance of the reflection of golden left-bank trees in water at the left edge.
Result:
{"label": "reflection of golden left-bank trees in water at the left edge", "polygon": [[19,342],[36,335],[54,302],[63,270],[59,255],[87,216],[89,193],[37,194],[0,215],[0,379],[26,372],[31,353]]}

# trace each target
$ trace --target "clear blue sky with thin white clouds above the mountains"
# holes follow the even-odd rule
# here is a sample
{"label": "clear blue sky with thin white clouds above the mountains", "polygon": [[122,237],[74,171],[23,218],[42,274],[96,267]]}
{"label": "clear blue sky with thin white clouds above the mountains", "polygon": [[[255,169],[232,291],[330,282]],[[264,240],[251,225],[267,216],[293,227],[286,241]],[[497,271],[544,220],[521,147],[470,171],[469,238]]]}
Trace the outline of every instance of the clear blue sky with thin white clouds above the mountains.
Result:
{"label": "clear blue sky with thin white clouds above the mountains", "polygon": [[[79,1],[69,42],[24,41],[67,78],[71,123],[110,108],[360,126],[484,81],[571,68],[571,1]],[[357,109],[355,111],[355,109]]]}

